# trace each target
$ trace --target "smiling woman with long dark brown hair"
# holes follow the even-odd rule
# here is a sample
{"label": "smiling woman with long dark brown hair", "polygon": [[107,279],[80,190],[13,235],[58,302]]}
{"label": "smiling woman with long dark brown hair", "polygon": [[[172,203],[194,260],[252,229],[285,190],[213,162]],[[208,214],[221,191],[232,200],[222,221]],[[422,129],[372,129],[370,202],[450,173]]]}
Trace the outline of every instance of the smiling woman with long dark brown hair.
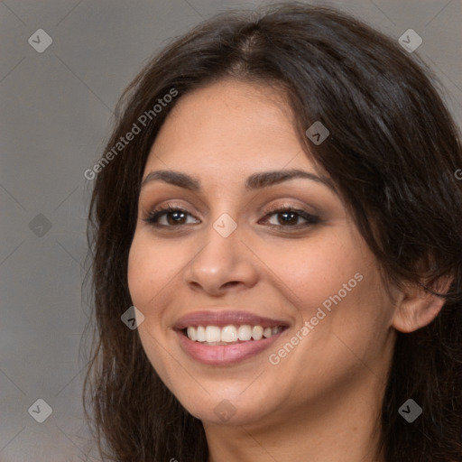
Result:
{"label": "smiling woman with long dark brown hair", "polygon": [[429,75],[285,4],[127,88],[89,214],[111,460],[462,460],[462,154]]}

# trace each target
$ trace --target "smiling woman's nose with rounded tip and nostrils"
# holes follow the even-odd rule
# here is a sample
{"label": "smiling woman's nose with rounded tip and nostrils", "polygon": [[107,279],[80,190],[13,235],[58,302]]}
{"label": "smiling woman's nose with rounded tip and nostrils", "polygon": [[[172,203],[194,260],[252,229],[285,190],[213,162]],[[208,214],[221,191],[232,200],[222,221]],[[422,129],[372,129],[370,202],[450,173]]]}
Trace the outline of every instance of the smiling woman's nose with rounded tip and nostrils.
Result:
{"label": "smiling woman's nose with rounded tip and nostrils", "polygon": [[224,237],[210,225],[204,236],[204,245],[185,269],[184,279],[190,289],[219,297],[253,287],[258,269],[249,245],[241,240],[239,226]]}

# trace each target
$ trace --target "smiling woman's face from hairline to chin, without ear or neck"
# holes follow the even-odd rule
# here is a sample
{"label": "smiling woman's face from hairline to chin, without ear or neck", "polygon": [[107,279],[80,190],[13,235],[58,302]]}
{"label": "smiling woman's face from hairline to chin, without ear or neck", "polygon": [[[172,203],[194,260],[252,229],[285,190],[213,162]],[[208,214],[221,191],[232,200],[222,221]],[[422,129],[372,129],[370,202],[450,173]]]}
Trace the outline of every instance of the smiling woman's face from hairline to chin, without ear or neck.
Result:
{"label": "smiling woman's face from hairline to chin, without ear or neck", "polygon": [[162,381],[211,424],[379,396],[392,355],[374,255],[292,122],[274,89],[220,81],[181,97],[143,173],[128,265],[138,332]]}

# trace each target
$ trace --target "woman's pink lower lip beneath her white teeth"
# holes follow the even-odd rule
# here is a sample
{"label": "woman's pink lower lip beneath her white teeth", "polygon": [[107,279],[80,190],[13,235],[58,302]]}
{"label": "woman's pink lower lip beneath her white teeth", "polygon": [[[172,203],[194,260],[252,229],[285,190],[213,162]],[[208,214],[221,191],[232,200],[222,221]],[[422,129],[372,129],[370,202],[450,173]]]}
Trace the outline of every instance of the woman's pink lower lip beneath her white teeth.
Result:
{"label": "woman's pink lower lip beneath her white teeth", "polygon": [[177,334],[180,337],[181,348],[199,363],[205,365],[232,365],[262,353],[281,336],[282,332],[269,338],[262,338],[262,340],[211,346],[193,342],[180,331],[177,331]]}

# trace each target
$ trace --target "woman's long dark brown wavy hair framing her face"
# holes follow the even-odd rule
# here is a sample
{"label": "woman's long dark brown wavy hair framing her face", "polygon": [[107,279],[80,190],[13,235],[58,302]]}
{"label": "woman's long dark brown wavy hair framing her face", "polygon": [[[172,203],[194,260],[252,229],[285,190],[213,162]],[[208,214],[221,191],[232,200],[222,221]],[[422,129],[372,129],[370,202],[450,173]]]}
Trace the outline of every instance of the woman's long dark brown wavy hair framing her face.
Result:
{"label": "woman's long dark brown wavy hair framing her face", "polygon": [[[144,165],[182,95],[220,79],[274,85],[300,143],[334,181],[388,281],[445,304],[430,325],[397,333],[380,427],[387,462],[462,460],[462,150],[442,89],[416,53],[354,16],[300,3],[218,14],[150,60],[115,111],[109,152],[172,88],[178,97],[100,165],[88,214],[93,337],[84,410],[105,460],[207,461],[202,422],[162,383],[137,330],[127,262]],[[315,121],[330,136],[318,146]],[[139,125],[139,122],[138,122]],[[107,160],[107,158],[106,158]],[[440,293],[440,282],[452,283]],[[412,398],[423,412],[399,415]]]}

